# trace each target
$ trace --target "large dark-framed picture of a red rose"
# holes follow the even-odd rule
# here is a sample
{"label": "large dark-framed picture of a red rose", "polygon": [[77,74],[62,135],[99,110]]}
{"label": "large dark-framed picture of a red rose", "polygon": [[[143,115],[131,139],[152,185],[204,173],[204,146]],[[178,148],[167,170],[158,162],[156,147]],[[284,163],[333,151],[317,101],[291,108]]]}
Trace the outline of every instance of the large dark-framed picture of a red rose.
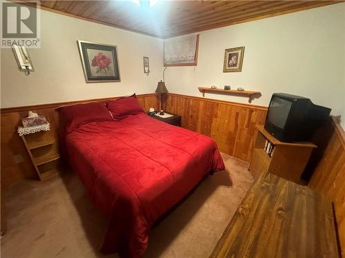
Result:
{"label": "large dark-framed picture of a red rose", "polygon": [[116,45],[77,42],[86,83],[120,81]]}

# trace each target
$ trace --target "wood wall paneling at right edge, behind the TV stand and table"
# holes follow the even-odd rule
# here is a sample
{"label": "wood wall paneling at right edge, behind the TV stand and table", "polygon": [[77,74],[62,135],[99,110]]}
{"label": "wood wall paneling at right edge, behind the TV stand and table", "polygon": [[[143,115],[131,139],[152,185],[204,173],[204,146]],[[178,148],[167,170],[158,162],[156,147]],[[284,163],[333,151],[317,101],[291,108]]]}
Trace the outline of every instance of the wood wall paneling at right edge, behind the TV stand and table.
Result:
{"label": "wood wall paneling at right edge, behind the TV stand and table", "polygon": [[345,257],[345,132],[333,117],[333,131],[308,186],[334,202],[342,257]]}

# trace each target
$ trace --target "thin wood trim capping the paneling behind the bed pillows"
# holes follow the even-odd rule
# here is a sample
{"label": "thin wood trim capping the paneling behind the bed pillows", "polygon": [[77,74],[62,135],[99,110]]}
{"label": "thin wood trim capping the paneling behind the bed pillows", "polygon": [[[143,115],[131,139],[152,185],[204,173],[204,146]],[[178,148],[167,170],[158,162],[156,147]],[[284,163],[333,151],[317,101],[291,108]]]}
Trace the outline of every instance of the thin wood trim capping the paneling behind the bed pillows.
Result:
{"label": "thin wood trim capping the paneling behind the bed pillows", "polygon": [[[149,94],[138,94],[138,97],[145,97],[145,96],[157,96],[156,93],[149,93]],[[48,109],[52,107],[59,107],[59,106],[66,106],[66,105],[75,105],[75,104],[82,104],[88,102],[103,102],[106,100],[115,100],[117,98],[124,98],[126,96],[114,96],[109,98],[93,98],[88,100],[72,100],[66,102],[59,102],[59,103],[47,103],[47,104],[38,104],[38,105],[28,105],[28,106],[20,106],[20,107],[4,107],[1,108],[1,114],[12,113],[12,112],[19,112],[19,111],[26,111],[30,109]]]}

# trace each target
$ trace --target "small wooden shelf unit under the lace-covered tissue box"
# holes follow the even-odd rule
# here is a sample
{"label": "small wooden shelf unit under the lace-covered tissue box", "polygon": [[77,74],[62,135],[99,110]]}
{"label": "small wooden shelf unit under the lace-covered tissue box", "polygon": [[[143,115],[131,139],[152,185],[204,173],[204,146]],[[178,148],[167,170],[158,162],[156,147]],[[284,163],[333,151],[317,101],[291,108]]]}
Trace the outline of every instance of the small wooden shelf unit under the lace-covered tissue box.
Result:
{"label": "small wooden shelf unit under the lace-covered tissue box", "polygon": [[59,173],[59,149],[53,131],[39,131],[21,136],[39,180]]}

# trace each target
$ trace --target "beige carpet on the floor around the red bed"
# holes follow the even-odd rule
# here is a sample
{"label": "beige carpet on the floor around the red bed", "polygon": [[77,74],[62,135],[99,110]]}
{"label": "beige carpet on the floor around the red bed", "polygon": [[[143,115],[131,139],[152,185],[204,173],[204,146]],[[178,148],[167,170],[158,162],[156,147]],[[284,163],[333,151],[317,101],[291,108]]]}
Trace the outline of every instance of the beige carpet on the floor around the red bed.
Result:
{"label": "beige carpet on the floor around the red bed", "polygon": [[[253,182],[248,163],[222,156],[226,171],[206,178],[151,230],[145,257],[210,255]],[[106,219],[72,173],[14,184],[6,194],[6,213],[2,258],[105,257],[97,249]]]}

